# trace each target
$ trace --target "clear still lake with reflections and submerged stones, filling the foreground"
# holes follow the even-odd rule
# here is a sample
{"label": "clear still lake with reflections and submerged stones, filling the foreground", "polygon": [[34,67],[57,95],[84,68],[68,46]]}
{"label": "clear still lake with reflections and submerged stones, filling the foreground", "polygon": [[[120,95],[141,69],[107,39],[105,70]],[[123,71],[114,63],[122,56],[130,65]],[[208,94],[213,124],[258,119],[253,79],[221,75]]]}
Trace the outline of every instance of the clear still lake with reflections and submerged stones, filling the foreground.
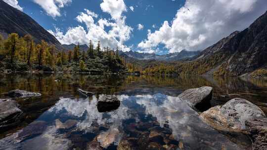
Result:
{"label": "clear still lake with reflections and submerged stones, filling the foreground", "polygon": [[[250,139],[217,131],[177,97],[188,88],[214,88],[211,106],[244,98],[267,114],[267,79],[201,76],[0,75],[0,98],[21,89],[41,97],[17,99],[21,123],[0,131],[0,150],[244,150]],[[94,92],[84,97],[77,89]],[[98,112],[105,95],[117,110]],[[133,148],[133,149],[130,149]]]}

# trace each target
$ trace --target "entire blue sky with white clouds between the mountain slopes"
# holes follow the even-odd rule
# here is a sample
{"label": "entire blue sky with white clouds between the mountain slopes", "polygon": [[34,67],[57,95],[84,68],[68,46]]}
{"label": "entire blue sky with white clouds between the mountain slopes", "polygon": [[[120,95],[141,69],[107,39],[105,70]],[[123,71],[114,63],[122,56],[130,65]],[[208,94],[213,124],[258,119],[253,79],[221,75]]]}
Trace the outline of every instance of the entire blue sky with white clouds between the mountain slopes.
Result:
{"label": "entire blue sky with white clouds between the mountain slopes", "polygon": [[4,1],[63,44],[88,44],[91,39],[124,51],[157,54],[202,50],[247,28],[267,10],[266,0]]}

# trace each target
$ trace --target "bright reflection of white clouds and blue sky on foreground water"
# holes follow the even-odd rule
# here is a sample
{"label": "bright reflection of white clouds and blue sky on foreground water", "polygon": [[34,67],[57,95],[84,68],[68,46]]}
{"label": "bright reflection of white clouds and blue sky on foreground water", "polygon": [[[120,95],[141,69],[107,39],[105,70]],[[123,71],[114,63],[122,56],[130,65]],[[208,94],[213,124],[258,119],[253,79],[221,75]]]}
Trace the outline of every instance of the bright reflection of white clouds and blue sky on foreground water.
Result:
{"label": "bright reflection of white clouds and blue sky on foreground water", "polygon": [[[99,97],[102,96],[99,95]],[[142,132],[150,131],[151,135],[153,131],[172,134],[174,140],[182,142],[186,150],[243,149],[242,146],[231,142],[218,131],[203,123],[198,113],[177,97],[156,93],[134,96],[122,94],[118,98],[122,101],[119,109],[104,113],[97,111],[95,96],[90,100],[89,98],[60,98],[35,122],[19,132],[1,139],[1,147],[23,150],[33,150],[37,146],[41,148],[40,150],[84,149],[90,140],[97,137],[101,147],[109,148],[112,145],[118,145],[123,137],[138,138],[140,132],[143,136],[147,136]],[[133,127],[131,124],[133,121],[131,123],[127,121],[129,119],[134,120],[135,125],[151,121],[153,123],[149,127],[144,126],[141,127],[142,130],[138,130],[137,126]],[[64,122],[68,122],[68,124],[64,125]],[[69,125],[71,123],[74,124]],[[132,126],[132,129],[129,129],[131,128],[129,126]],[[153,127],[157,128],[153,129]],[[88,134],[92,137],[76,141],[70,136],[76,132],[79,133],[81,139]],[[133,134],[134,132],[136,134]],[[149,137],[146,138],[149,139]],[[166,135],[162,137],[166,137]],[[163,142],[164,144],[168,143]]]}

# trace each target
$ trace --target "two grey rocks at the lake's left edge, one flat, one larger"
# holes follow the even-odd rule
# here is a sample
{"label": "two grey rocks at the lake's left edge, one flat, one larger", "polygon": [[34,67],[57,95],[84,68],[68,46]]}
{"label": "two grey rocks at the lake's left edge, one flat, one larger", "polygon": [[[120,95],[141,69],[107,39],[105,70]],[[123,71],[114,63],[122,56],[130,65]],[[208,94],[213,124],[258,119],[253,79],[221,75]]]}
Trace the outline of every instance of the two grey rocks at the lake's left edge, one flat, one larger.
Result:
{"label": "two grey rocks at the lake's left edge, one flat, one larger", "polygon": [[[24,90],[12,90],[5,94],[10,98],[39,97],[40,93],[28,92]],[[23,112],[19,105],[12,99],[0,99],[0,130],[5,130],[16,126],[23,119]]]}

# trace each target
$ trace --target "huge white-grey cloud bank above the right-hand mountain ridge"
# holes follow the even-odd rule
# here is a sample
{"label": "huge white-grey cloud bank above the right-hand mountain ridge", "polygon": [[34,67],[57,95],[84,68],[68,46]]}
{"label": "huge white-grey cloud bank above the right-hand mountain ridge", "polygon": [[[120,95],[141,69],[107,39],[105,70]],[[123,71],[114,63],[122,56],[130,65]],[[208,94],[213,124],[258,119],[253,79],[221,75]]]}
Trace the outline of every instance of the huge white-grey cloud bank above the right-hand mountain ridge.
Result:
{"label": "huge white-grey cloud bank above the right-hand mountain ridge", "polygon": [[164,21],[138,47],[145,51],[164,44],[171,53],[204,49],[247,28],[266,10],[266,0],[186,0],[171,23]]}

